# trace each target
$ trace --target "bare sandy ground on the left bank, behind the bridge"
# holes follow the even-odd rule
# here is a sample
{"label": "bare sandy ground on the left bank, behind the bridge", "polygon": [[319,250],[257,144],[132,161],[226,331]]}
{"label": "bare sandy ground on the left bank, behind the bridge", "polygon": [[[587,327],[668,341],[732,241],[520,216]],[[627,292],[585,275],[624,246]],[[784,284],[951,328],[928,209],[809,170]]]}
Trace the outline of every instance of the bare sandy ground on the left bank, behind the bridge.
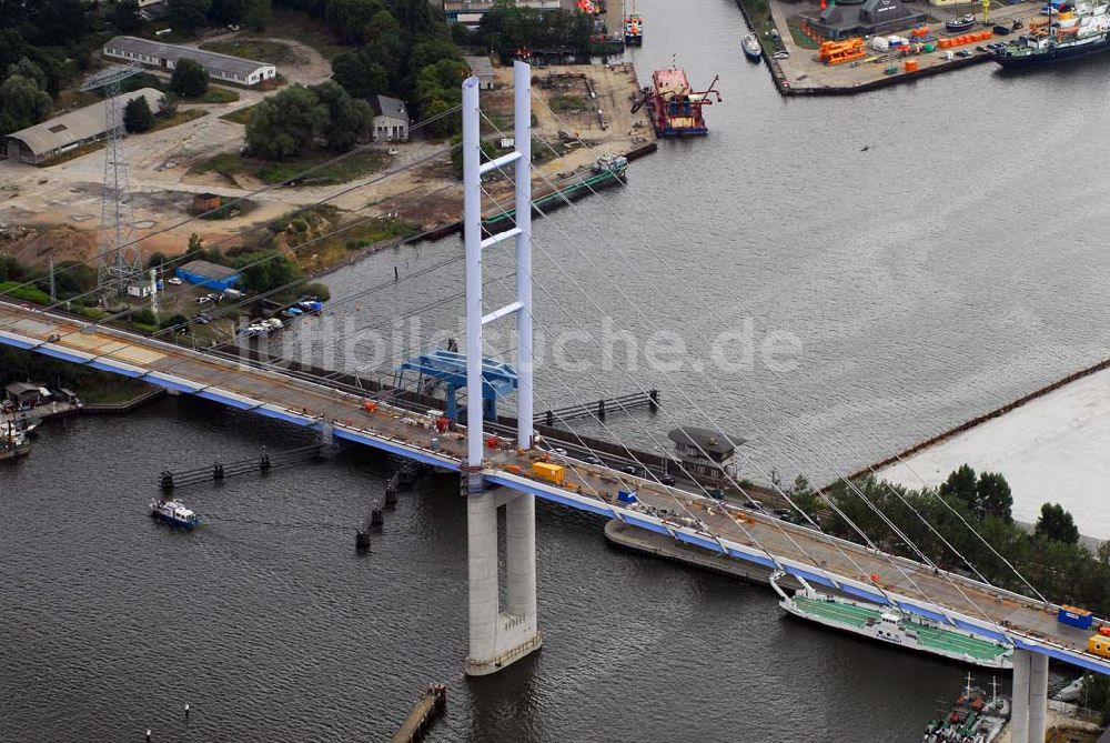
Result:
{"label": "bare sandy ground on the left bank, behind the bridge", "polygon": [[[235,36],[235,34],[228,34]],[[226,37],[222,37],[226,38]],[[204,41],[211,41],[205,39]],[[273,39],[291,48],[292,62],[281,68],[291,82],[306,84],[326,80],[329,62],[314,49],[289,39]],[[498,127],[512,128],[512,68],[495,68],[497,89],[483,91],[482,106]],[[572,90],[547,90],[538,81],[548,73],[582,76],[573,78]],[[586,93],[585,77],[593,83],[595,99]],[[544,162],[535,177],[536,192],[545,189],[544,179],[587,169],[602,153],[626,153],[654,140],[645,112],[630,113],[633,93],[638,89],[630,64],[551,67],[534,70],[533,111],[537,124],[535,155],[542,142],[555,143],[563,132],[566,154]],[[215,172],[190,173],[190,169],[221,152],[239,153],[244,143],[245,128],[221,117],[260,102],[268,91],[235,89],[240,100],[225,104],[182,104],[182,109],[202,109],[205,116],[158,132],[128,137],[124,143],[129,170],[135,235],[143,238],[142,252],[167,255],[182,252],[189,235],[201,235],[205,244],[223,249],[235,245],[242,234],[261,228],[272,220],[300,208],[329,199],[344,210],[344,219],[366,215],[389,215],[431,230],[454,223],[462,213],[462,187],[451,167],[450,144],[416,134],[411,142],[390,143],[377,148],[385,160],[384,168],[356,180],[327,187],[266,188],[246,174],[233,180]],[[588,101],[583,110],[564,110],[555,114],[547,106],[553,96],[575,97]],[[604,116],[601,124],[597,110]],[[496,137],[484,124],[484,137]],[[569,134],[569,137],[568,137]],[[583,145],[577,139],[585,143]],[[386,154],[387,153],[387,154]],[[434,157],[442,153],[442,157]],[[420,165],[410,168],[420,160]],[[101,193],[104,169],[103,150],[98,150],[52,167],[33,167],[12,160],[0,160],[0,250],[30,263],[44,263],[53,251],[58,260],[91,261],[98,251],[97,232],[101,219]],[[506,181],[494,182],[490,192],[495,198],[511,193]],[[262,190],[265,189],[265,190]],[[212,192],[224,197],[249,198],[252,209],[224,220],[190,219],[189,209],[196,193]],[[341,195],[336,195],[342,192]],[[487,204],[492,209],[493,204]],[[36,234],[20,237],[20,228],[30,227]],[[313,267],[319,270],[320,267]]]}

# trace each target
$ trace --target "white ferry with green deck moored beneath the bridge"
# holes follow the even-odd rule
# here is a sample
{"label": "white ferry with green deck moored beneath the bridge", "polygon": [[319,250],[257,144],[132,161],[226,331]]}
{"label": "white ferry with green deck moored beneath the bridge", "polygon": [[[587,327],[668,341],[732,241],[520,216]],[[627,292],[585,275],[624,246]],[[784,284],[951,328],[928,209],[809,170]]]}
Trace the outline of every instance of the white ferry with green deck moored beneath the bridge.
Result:
{"label": "white ferry with green deck moored beneath the bridge", "polygon": [[1013,649],[1009,645],[892,605],[879,606],[820,593],[808,584],[789,595],[778,585],[780,576],[773,576],[771,588],[781,596],[779,606],[794,616],[950,661],[987,669],[1013,667],[1010,660]]}

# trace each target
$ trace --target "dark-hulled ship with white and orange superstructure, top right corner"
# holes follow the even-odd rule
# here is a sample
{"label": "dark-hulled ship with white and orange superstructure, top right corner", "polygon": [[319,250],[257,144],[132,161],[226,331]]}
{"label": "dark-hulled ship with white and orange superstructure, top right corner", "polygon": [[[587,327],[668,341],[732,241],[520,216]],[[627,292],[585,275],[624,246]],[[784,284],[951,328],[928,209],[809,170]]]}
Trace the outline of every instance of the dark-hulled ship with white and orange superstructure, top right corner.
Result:
{"label": "dark-hulled ship with white and orange superstructure, top right corner", "polygon": [[1031,20],[1027,33],[995,52],[1006,68],[1051,64],[1110,49],[1107,4],[1061,6],[1054,17]]}

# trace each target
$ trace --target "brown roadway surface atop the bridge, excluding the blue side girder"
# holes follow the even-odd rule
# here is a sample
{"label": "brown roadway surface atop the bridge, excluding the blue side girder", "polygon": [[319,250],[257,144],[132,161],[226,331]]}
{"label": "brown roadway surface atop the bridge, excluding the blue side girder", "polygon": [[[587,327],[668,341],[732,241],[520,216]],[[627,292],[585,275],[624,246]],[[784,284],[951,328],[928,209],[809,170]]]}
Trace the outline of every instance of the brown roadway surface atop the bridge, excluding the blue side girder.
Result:
{"label": "brown roadway surface atop the bridge, excluding the blue side girder", "polygon": [[[307,318],[304,321],[314,320]],[[52,351],[91,354],[98,360],[124,364],[135,375],[154,373],[160,375],[158,383],[163,385],[175,383],[174,379],[188,381],[189,386],[201,386],[198,394],[215,396],[221,401],[231,399],[243,409],[302,424],[321,425],[327,421],[336,430],[351,434],[349,438],[362,436],[367,443],[372,441],[373,445],[403,444],[416,450],[416,454],[425,461],[435,461],[450,469],[460,469],[465,459],[464,435],[436,434],[434,421],[426,415],[387,404],[366,412],[363,408],[365,398],[295,379],[280,369],[252,368],[113,329],[87,328],[82,331],[79,322],[72,319],[0,302],[0,340],[3,342],[23,339],[46,343],[53,335],[60,337],[60,340],[50,344]],[[435,446],[433,436],[437,440]],[[546,456],[537,450],[518,451],[512,441],[503,441],[496,448],[487,448],[486,472],[526,473],[534,460]],[[595,510],[601,510],[598,501],[612,504],[618,490],[636,488],[639,500],[663,516],[664,525],[672,533],[700,539],[710,546],[713,540],[722,540],[729,551],[743,552],[747,549],[756,558],[769,553],[778,559],[793,560],[796,566],[811,573],[833,574],[838,583],[851,582],[872,593],[874,586],[878,585],[904,605],[908,603],[924,609],[941,605],[950,616],[960,614],[966,621],[980,625],[1001,624],[1026,637],[1051,643],[1061,651],[1058,657],[1082,654],[1089,666],[1098,664],[1104,672],[1110,672],[1110,663],[1083,650],[1090,632],[1059,624],[1051,606],[602,466],[567,462],[567,469],[563,492],[577,495],[582,499],[581,503],[592,503]],[[523,479],[521,484],[531,482]],[[551,486],[549,483],[544,485]],[[604,510],[608,511],[608,505]],[[668,513],[663,514],[663,510]],[[658,520],[653,522],[656,525],[659,523]]]}

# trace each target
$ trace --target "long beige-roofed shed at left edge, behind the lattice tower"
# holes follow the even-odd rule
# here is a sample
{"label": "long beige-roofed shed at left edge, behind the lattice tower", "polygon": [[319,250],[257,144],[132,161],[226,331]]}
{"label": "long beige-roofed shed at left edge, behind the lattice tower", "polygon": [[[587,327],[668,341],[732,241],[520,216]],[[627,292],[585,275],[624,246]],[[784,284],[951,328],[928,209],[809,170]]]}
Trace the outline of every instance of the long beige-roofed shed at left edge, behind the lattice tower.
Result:
{"label": "long beige-roofed shed at left edge, behind the lattice tower", "polygon": [[[150,110],[157,112],[162,93],[153,88],[142,88],[120,98],[122,106],[137,98],[145,98]],[[3,151],[11,160],[39,164],[83,144],[98,142],[108,133],[107,108],[108,103],[101,101],[20,129],[4,138],[7,147]]]}

